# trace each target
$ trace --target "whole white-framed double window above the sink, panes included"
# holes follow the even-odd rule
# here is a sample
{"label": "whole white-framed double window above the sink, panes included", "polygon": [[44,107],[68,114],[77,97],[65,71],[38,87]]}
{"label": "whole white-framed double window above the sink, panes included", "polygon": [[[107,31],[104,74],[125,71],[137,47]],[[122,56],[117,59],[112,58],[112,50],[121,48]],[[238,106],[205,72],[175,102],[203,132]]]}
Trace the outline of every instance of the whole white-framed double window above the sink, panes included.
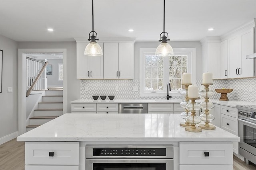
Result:
{"label": "whole white-framed double window above the sink, panes included", "polygon": [[[195,74],[195,67],[192,69],[195,48],[174,49],[174,55],[170,57],[156,56],[155,50],[140,49],[140,96],[165,96],[168,82],[171,95],[180,96],[178,92],[182,89],[182,74]],[[192,80],[195,83],[195,75]]]}

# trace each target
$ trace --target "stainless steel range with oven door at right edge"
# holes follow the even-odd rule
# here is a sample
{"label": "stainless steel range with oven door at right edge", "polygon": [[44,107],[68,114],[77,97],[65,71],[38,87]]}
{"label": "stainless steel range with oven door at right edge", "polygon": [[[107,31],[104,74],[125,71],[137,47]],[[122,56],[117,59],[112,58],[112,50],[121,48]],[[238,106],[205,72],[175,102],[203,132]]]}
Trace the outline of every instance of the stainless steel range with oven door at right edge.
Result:
{"label": "stainless steel range with oven door at right edge", "polygon": [[238,108],[239,154],[246,163],[256,164],[256,106],[236,106]]}

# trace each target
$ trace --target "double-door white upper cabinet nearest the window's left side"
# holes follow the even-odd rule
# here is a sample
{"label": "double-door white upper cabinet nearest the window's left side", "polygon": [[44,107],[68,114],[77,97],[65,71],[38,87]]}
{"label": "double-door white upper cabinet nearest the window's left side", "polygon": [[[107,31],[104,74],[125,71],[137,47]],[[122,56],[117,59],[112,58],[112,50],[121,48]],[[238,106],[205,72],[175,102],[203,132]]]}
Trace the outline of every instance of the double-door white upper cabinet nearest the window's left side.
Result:
{"label": "double-door white upper cabinet nearest the window's left side", "polygon": [[134,44],[104,43],[104,79],[134,78]]}

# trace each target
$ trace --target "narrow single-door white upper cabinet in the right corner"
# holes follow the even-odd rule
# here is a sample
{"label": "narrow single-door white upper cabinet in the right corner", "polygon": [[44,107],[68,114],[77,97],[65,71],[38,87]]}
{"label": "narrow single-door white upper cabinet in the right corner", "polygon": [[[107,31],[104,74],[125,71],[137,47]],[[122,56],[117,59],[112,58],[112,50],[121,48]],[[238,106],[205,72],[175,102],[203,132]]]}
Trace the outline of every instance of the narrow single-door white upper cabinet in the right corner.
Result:
{"label": "narrow single-door white upper cabinet in the right corner", "polygon": [[228,40],[220,43],[220,78],[228,78]]}

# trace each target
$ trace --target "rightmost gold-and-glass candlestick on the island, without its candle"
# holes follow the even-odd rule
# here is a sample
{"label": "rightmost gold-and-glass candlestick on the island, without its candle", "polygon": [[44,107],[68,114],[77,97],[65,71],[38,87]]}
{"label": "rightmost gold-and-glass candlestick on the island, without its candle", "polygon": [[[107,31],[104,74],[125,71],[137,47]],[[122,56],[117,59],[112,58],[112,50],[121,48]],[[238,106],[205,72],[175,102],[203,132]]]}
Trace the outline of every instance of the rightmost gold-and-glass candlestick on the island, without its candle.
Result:
{"label": "rightmost gold-and-glass candlestick on the island, without its candle", "polygon": [[209,125],[211,121],[214,120],[214,116],[209,113],[210,109],[214,107],[212,102],[209,101],[209,98],[213,95],[213,92],[209,90],[209,86],[212,84],[201,84],[204,85],[204,90],[200,92],[200,96],[204,97],[204,102],[200,103],[200,106],[204,108],[204,114],[200,115],[202,121],[204,121],[204,125],[199,125],[202,129],[206,130],[214,130],[216,127],[214,125]]}

